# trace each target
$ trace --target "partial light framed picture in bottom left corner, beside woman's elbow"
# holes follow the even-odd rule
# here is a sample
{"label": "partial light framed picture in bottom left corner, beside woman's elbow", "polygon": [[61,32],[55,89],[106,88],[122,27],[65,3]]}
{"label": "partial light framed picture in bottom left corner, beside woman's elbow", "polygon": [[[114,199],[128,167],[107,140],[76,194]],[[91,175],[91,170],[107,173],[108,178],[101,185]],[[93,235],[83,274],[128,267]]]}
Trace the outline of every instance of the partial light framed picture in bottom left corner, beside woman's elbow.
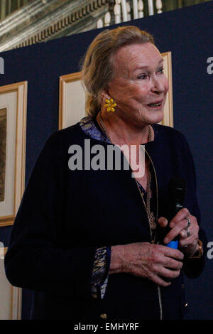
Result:
{"label": "partial light framed picture in bottom left corner, beside woman's elbow", "polygon": [[[2,244],[1,244],[2,246]],[[0,255],[0,320],[21,319],[21,288],[11,286],[4,271],[6,248],[1,247]]]}

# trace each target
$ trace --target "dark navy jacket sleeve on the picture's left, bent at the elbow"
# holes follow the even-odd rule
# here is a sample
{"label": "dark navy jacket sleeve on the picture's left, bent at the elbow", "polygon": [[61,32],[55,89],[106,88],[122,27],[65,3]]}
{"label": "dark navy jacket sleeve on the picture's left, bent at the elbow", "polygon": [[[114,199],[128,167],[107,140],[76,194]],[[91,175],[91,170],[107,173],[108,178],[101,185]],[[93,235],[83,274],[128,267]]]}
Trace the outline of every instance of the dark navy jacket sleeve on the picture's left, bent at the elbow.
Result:
{"label": "dark navy jacket sleeve on the picture's left, bent at the elbow", "polygon": [[[31,173],[11,231],[5,271],[13,286],[91,298],[96,247],[58,242],[68,168],[59,132],[50,136]],[[70,213],[71,224],[72,219]]]}

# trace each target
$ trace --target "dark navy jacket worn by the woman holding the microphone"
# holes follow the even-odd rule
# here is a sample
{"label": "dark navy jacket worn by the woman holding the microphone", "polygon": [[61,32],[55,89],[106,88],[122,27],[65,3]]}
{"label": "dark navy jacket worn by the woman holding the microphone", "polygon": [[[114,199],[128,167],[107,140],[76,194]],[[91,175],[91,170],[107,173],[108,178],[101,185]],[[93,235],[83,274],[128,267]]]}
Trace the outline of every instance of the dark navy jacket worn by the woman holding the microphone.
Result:
{"label": "dark navy jacket worn by the woman holding the microphone", "polygon": [[[189,146],[179,131],[155,125],[158,135],[146,144],[158,179],[158,217],[165,216],[171,177],[187,183],[185,207],[200,222],[195,168]],[[6,276],[14,286],[34,291],[33,319],[182,318],[182,273],[159,288],[131,274],[109,276],[103,300],[91,296],[97,247],[151,242],[148,217],[131,170],[70,171],[70,145],[103,143],[80,124],[50,136],[28,181],[5,257]],[[84,163],[84,158],[83,158]],[[160,235],[158,236],[158,239]],[[187,264],[186,264],[187,266]],[[200,274],[196,264],[191,276]],[[188,273],[190,275],[190,272]],[[160,298],[159,298],[160,297]]]}

